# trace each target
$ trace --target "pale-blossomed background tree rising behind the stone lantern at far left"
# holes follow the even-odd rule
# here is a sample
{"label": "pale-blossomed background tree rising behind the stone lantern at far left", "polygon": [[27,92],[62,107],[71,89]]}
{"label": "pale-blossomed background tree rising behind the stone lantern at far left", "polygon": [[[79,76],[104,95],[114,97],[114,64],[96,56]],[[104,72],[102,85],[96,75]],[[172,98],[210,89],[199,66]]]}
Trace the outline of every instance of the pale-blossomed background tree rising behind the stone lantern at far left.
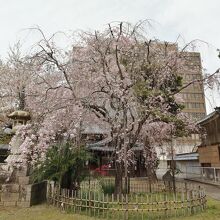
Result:
{"label": "pale-blossomed background tree rising behind the stone lantern at far left", "polygon": [[26,56],[22,56],[19,42],[10,48],[6,62],[1,62],[0,76],[0,108],[6,112],[24,109],[26,96],[33,95],[30,85],[34,76],[32,63]]}

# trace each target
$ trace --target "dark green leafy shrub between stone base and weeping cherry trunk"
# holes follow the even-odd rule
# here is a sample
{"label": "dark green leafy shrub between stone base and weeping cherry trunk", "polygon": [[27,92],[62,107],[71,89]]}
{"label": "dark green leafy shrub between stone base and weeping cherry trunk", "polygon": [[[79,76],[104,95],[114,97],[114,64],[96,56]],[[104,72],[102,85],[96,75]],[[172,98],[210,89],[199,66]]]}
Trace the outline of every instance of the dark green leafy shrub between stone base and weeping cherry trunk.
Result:
{"label": "dark green leafy shrub between stone base and weeping cherry trunk", "polygon": [[62,188],[77,189],[80,182],[89,174],[86,162],[90,154],[83,146],[72,143],[53,145],[46,154],[46,159],[39,162],[32,172],[33,182],[45,179],[58,182]]}

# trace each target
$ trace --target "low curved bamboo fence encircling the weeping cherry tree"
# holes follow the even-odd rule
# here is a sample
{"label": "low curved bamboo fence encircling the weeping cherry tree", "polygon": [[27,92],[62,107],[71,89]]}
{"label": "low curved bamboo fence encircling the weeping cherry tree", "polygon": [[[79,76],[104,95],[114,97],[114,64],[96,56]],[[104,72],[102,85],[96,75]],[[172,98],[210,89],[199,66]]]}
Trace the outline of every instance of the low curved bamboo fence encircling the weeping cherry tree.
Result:
{"label": "low curved bamboo fence encircling the weeping cherry tree", "polygon": [[[48,203],[67,212],[73,212],[100,219],[164,219],[172,216],[186,216],[201,212],[206,207],[203,189],[178,183],[174,194],[166,191],[164,185],[153,184],[153,189],[135,182],[135,193],[109,195],[81,188],[79,191],[49,188]],[[145,185],[148,185],[145,183]],[[140,187],[140,188],[139,188]],[[142,188],[141,188],[142,187]],[[144,189],[144,192],[141,192]],[[148,189],[148,191],[146,190]]]}

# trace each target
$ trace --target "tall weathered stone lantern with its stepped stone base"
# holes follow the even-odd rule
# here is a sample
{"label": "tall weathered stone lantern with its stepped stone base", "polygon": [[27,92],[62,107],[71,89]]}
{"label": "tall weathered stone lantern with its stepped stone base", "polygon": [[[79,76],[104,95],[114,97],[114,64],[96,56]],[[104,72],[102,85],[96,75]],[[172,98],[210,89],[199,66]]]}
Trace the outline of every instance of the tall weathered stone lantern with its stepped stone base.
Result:
{"label": "tall weathered stone lantern with its stepped stone base", "polygon": [[[17,110],[7,115],[12,119],[12,131],[16,131],[17,126],[25,125],[31,119],[30,113]],[[46,198],[46,183],[43,188],[32,187],[30,184],[29,166],[22,163],[20,146],[22,144],[20,134],[17,134],[10,143],[10,155],[6,158],[5,164],[0,165],[0,207],[19,206],[30,207],[37,203],[43,192],[43,199]]]}

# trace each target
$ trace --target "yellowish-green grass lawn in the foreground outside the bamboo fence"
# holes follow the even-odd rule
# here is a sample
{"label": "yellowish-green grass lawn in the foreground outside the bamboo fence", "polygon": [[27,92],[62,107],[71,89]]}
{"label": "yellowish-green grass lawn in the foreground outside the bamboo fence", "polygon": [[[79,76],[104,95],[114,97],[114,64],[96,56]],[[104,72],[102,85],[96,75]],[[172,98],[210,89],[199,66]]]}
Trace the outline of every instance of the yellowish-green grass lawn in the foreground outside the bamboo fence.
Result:
{"label": "yellowish-green grass lawn in the foreground outside the bamboo fence", "polygon": [[[207,209],[200,214],[189,217],[170,218],[170,220],[219,220],[220,201],[208,199]],[[0,207],[0,220],[94,220],[88,216],[66,214],[57,208],[47,205],[38,205],[31,208],[2,208]]]}

